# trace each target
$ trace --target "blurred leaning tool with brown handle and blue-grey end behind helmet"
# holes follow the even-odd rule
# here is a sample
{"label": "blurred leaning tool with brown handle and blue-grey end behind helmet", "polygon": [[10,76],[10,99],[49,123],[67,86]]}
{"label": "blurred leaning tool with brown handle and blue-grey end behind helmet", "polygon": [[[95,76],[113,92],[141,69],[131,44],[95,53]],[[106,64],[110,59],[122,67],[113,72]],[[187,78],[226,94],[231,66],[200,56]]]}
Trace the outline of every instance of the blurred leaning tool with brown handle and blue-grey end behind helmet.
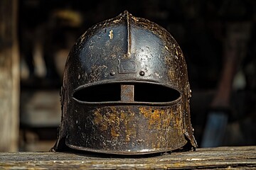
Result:
{"label": "blurred leaning tool with brown handle and blue-grey end behind helmet", "polygon": [[201,147],[223,145],[228,119],[232,115],[230,95],[233,91],[233,79],[243,57],[245,57],[249,37],[250,23],[230,23],[227,25],[223,72],[208,111]]}

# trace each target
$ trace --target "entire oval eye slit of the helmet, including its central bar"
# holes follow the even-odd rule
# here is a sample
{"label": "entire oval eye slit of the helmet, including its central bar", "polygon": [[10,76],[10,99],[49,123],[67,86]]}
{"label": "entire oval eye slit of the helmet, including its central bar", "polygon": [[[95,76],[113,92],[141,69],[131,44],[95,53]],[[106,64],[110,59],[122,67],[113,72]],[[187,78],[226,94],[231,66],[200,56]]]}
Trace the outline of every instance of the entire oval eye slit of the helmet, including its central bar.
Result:
{"label": "entire oval eye slit of the helmet, including its central bar", "polygon": [[73,94],[73,98],[84,103],[166,103],[180,97],[181,94],[176,89],[144,82],[97,84],[78,89]]}

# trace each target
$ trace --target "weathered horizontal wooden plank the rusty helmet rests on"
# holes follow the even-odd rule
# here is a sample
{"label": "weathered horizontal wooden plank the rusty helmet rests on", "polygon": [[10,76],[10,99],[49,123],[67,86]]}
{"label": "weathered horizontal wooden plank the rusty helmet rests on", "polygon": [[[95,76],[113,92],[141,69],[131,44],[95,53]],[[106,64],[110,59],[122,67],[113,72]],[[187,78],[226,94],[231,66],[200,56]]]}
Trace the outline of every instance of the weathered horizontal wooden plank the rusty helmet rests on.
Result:
{"label": "weathered horizontal wooden plank the rusty helmet rests on", "polygon": [[0,153],[0,169],[256,169],[256,146],[196,149],[154,157],[85,152]]}

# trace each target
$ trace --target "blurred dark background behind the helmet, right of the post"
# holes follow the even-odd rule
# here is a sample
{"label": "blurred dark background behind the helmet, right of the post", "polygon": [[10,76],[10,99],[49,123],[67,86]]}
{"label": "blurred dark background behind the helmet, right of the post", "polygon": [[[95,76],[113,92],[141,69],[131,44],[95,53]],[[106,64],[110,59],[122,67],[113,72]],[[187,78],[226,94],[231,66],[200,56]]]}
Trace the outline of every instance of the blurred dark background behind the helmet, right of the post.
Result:
{"label": "blurred dark background behind the helmet, right of the post", "polygon": [[[198,145],[213,106],[229,110],[221,146],[256,145],[255,0],[19,0],[20,150],[47,151],[53,146],[70,48],[87,28],[124,10],[163,26],[181,46]],[[230,65],[233,72],[227,74],[230,81],[226,83],[223,70]],[[213,104],[223,94],[220,84],[230,92],[228,102]]]}

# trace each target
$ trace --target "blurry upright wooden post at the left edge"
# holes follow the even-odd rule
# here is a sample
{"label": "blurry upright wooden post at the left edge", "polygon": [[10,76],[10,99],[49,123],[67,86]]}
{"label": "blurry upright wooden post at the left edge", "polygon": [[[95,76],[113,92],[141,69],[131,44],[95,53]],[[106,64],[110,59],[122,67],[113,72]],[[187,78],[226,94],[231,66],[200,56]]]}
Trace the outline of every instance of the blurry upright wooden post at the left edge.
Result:
{"label": "blurry upright wooden post at the left edge", "polygon": [[18,150],[18,0],[0,1],[0,152]]}

